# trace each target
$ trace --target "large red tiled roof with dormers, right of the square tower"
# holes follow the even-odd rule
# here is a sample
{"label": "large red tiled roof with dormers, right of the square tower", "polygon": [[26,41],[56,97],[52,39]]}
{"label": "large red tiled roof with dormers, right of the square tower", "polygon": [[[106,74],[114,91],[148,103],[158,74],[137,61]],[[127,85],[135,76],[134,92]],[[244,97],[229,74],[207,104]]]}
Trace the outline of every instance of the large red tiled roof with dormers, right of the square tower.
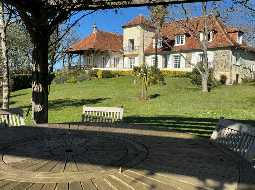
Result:
{"label": "large red tiled roof with dormers, right of the square tower", "polygon": [[[234,32],[234,28],[227,28],[215,16],[209,16],[207,19],[208,30],[213,32],[213,40],[208,42],[208,48],[223,48],[238,46],[236,43],[237,35],[240,30]],[[195,17],[188,20],[179,20],[165,23],[161,29],[161,36],[171,41],[171,51],[183,51],[201,49],[199,33],[204,28],[204,17]],[[230,34],[231,32],[231,34]],[[185,35],[185,44],[174,46],[175,37],[177,35]],[[146,49],[146,53],[153,53],[155,50],[150,46]]]}

